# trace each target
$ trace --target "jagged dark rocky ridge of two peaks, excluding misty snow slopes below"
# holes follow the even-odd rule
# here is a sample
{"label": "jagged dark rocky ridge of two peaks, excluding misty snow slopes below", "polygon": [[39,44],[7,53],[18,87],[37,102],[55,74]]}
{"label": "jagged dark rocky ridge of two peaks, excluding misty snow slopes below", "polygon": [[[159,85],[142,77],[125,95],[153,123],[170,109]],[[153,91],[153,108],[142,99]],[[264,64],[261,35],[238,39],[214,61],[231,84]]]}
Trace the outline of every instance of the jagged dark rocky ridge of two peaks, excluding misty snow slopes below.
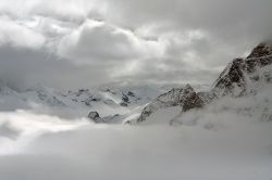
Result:
{"label": "jagged dark rocky ridge of two peaks, excluding misty snow slopes below", "polygon": [[181,113],[191,108],[203,107],[215,99],[230,95],[239,98],[255,95],[258,90],[272,83],[272,44],[260,43],[246,59],[235,59],[221,73],[208,92],[198,92],[187,85],[158,97],[141,112],[137,123],[160,108],[181,106]]}

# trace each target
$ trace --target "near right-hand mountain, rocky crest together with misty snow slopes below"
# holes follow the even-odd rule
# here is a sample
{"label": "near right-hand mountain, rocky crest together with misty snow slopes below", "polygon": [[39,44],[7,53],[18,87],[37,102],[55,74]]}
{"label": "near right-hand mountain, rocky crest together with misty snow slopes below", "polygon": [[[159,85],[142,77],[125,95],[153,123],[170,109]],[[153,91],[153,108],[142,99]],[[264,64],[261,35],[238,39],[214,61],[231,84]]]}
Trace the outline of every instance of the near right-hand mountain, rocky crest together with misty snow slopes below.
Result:
{"label": "near right-hand mountain, rocky crest together with misty snow slopes below", "polygon": [[[166,124],[172,124],[178,121],[187,111],[200,107],[209,108],[214,103],[220,104],[219,110],[221,111],[230,108],[244,114],[252,114],[257,111],[257,114],[262,114],[261,116],[264,119],[271,120],[272,100],[269,99],[269,97],[272,97],[271,91],[272,44],[260,43],[246,59],[232,61],[210,90],[196,92],[189,85],[184,88],[172,89],[149,103],[143,110],[136,124],[143,121],[150,124],[146,123],[150,119],[154,124],[163,120]],[[261,94],[265,94],[265,98]],[[250,104],[243,104],[242,106],[224,103],[227,98],[234,99],[232,100],[233,103],[239,103],[239,101],[245,101],[242,98],[247,99],[248,97],[249,99],[256,99],[256,101],[250,101]]]}

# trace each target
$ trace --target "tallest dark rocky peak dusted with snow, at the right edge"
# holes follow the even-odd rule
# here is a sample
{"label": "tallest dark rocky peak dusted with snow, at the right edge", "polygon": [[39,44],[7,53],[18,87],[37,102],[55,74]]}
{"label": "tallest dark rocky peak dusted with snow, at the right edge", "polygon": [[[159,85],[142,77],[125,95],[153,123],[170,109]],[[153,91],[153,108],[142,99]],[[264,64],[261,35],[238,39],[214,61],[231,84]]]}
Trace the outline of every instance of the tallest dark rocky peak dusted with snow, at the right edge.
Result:
{"label": "tallest dark rocky peak dusted with snow, at the right edge", "polygon": [[218,98],[254,94],[261,85],[272,82],[272,46],[260,43],[247,59],[235,59],[214,82]]}

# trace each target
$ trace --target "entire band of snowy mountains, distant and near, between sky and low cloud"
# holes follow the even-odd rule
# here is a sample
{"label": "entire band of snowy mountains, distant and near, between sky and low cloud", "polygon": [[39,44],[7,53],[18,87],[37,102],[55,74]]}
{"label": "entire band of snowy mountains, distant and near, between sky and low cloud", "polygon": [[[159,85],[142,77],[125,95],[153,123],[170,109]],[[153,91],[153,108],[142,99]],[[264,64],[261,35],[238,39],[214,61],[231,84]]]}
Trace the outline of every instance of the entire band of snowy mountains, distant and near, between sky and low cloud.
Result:
{"label": "entire band of snowy mountains, distant and near, between sky and low cloud", "polygon": [[[270,92],[271,83],[272,44],[260,43],[246,59],[232,61],[210,88],[190,85],[116,83],[96,89],[60,92],[39,85],[17,92],[1,85],[0,111],[28,110],[71,119],[87,117],[88,114],[91,118],[91,115],[98,114],[99,118],[96,116],[92,120],[107,124],[146,124],[147,120],[156,117],[164,118],[169,124],[178,119],[185,112],[208,108],[210,104],[225,98],[256,98],[259,92]],[[260,100],[260,102],[270,104],[270,100]],[[269,105],[255,104],[250,110],[247,107],[247,111],[252,111],[254,106],[263,107],[264,110],[261,110],[263,114],[271,118]],[[173,113],[169,111],[171,108]],[[237,111],[245,112],[240,108],[238,107]]]}

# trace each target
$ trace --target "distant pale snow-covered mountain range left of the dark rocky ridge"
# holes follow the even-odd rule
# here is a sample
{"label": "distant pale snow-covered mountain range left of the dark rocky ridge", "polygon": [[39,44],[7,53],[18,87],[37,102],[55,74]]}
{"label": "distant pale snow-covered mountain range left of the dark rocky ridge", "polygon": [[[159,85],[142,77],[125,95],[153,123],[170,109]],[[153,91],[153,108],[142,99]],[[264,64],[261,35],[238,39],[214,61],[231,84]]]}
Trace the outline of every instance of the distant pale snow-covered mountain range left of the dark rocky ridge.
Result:
{"label": "distant pale snow-covered mountain range left of the dark rocky ridge", "polygon": [[88,113],[92,111],[104,117],[104,121],[110,121],[116,117],[123,119],[124,116],[128,116],[133,112],[140,112],[141,106],[152,101],[165,89],[165,87],[159,86],[110,85],[96,89],[61,92],[38,85],[18,92],[1,85],[0,112],[27,110],[75,118],[87,117]]}

